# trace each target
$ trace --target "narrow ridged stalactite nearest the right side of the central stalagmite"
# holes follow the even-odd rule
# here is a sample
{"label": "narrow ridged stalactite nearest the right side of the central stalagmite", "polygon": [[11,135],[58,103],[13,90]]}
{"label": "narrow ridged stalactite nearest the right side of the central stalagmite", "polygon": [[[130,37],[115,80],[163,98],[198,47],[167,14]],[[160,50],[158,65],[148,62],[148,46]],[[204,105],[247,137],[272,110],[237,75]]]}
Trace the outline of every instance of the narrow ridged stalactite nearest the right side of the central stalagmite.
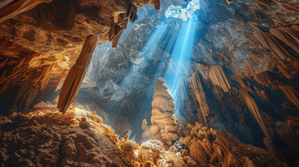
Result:
{"label": "narrow ridged stalactite nearest the right side of the central stalagmite", "polygon": [[[199,113],[201,113],[202,117],[204,118],[204,124],[206,127],[208,127],[206,117],[209,116],[210,110],[208,108],[208,103],[206,102],[206,95],[201,86],[198,72],[192,74],[192,77],[189,78],[189,83],[191,87],[191,95],[194,100],[194,104],[197,107],[197,115],[199,120],[201,120],[201,116],[199,115]],[[199,104],[199,106],[197,104]]]}

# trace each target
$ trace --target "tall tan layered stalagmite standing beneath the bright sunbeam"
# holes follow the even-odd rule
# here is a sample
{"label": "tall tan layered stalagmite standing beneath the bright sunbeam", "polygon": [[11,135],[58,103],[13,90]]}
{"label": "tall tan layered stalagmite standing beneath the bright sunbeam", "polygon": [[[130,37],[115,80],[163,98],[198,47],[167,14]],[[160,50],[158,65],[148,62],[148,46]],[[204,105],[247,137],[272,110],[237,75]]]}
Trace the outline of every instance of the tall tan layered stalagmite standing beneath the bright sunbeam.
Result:
{"label": "tall tan layered stalagmite standing beneath the bright sunbeam", "polygon": [[146,120],[144,120],[142,138],[155,138],[162,141],[164,145],[171,145],[171,142],[181,134],[178,120],[174,116],[175,110],[174,97],[172,97],[164,79],[158,78],[153,94],[151,125],[147,126]]}

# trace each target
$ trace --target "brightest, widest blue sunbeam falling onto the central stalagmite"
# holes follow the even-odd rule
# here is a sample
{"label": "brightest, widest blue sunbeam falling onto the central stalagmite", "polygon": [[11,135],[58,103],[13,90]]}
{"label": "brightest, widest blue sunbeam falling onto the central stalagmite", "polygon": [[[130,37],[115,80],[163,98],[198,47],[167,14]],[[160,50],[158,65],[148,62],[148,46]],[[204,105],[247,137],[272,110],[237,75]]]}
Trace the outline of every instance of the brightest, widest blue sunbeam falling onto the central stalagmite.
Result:
{"label": "brightest, widest blue sunbeam falling onto the central stalagmite", "polygon": [[[195,26],[197,24],[197,15],[192,15],[187,22],[184,22],[178,33],[178,38],[172,51],[171,60],[164,75],[174,102],[178,100],[178,80],[187,76],[189,72],[189,64],[192,55],[192,46],[195,38]],[[177,104],[177,103],[176,103]]]}

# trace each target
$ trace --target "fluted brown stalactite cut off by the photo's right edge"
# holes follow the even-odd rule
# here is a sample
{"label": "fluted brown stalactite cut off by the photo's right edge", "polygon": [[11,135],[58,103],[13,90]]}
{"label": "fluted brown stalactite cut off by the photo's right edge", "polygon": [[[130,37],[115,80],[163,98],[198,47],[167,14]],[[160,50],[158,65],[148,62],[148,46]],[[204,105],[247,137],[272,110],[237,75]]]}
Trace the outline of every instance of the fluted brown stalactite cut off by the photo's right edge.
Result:
{"label": "fluted brown stalactite cut off by the photo's right edge", "polygon": [[271,28],[270,33],[299,53],[299,26],[279,26]]}

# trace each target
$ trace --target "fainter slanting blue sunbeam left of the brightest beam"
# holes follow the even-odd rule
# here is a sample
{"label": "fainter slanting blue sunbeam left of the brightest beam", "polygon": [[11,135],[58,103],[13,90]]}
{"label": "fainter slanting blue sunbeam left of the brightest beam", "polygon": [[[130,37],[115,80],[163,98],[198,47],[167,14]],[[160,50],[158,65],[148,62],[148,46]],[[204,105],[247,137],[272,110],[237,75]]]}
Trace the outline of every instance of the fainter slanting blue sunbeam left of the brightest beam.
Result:
{"label": "fainter slanting blue sunbeam left of the brightest beam", "polygon": [[121,81],[120,89],[116,90],[116,93],[112,96],[113,99],[117,99],[118,96],[123,96],[128,90],[132,90],[136,83],[140,80],[140,76],[144,74],[144,70],[149,65],[149,61],[153,60],[154,51],[158,46],[160,40],[164,36],[164,33],[167,29],[167,24],[161,22],[160,25],[155,29],[151,38],[148,39],[146,45],[144,46],[143,54],[138,56],[128,70],[127,74]]}

